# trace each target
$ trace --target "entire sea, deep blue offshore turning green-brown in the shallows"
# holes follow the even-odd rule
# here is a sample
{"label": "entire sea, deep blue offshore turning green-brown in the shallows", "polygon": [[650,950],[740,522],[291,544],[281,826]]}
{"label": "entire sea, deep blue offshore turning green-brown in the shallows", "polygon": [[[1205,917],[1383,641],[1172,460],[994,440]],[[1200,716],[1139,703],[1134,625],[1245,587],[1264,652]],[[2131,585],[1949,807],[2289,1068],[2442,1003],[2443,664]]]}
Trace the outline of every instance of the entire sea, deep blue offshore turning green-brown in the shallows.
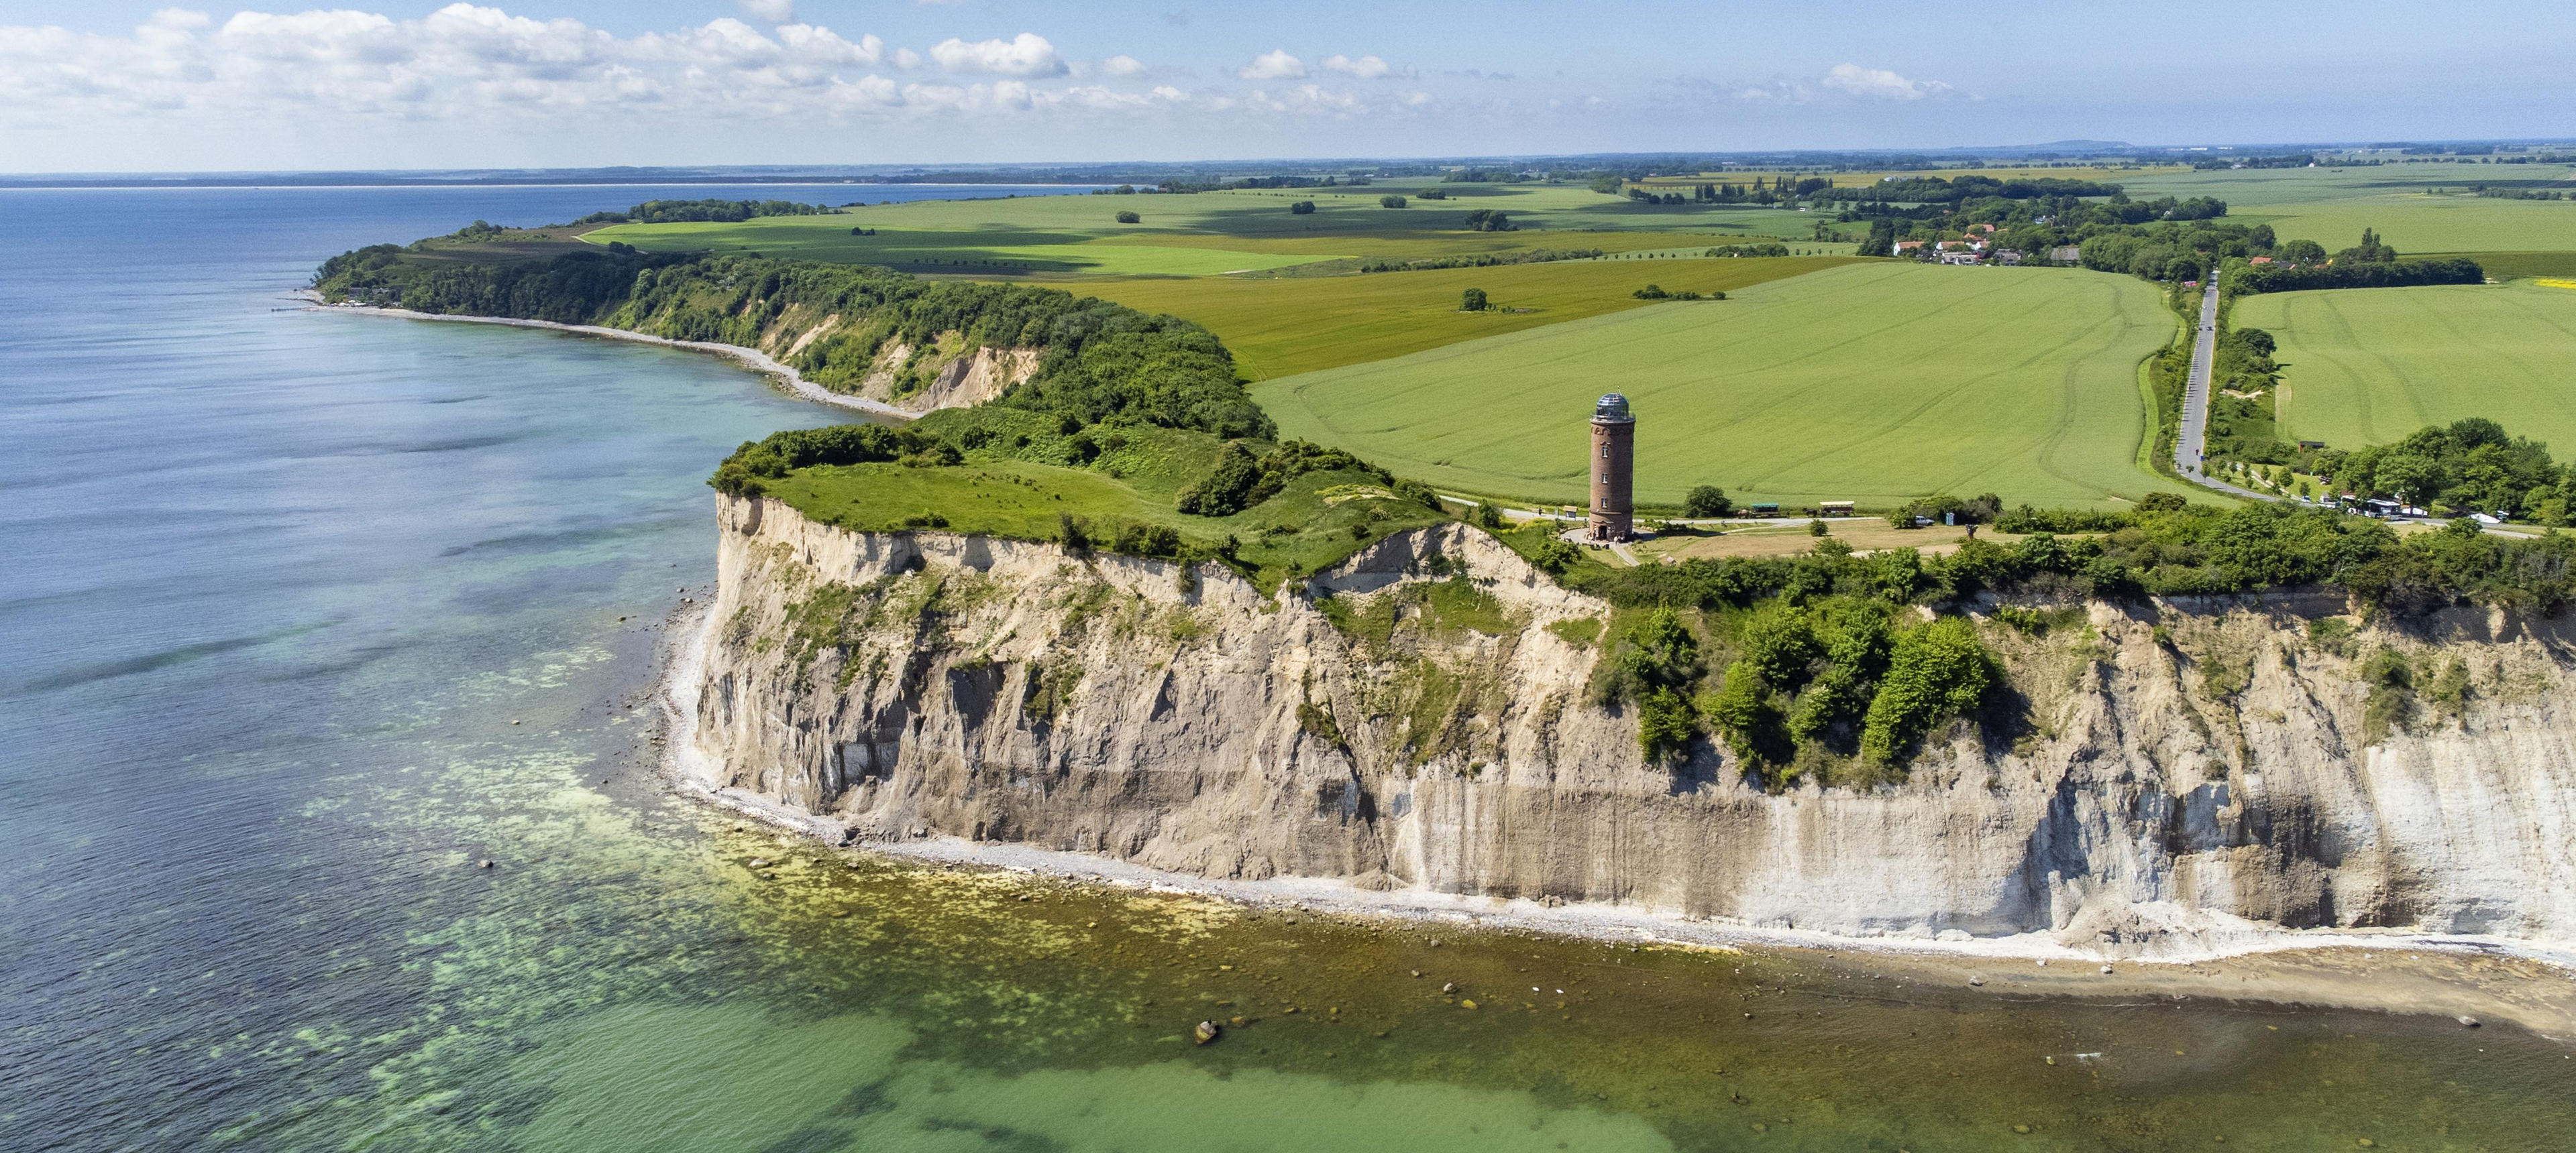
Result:
{"label": "entire sea, deep blue offshore turning green-brown in the shallows", "polygon": [[961,193],[0,193],[0,1148],[2568,1148],[2576,1063],[2504,1027],[786,847],[659,795],[639,705],[714,461],[842,417],[289,299],[471,219]]}

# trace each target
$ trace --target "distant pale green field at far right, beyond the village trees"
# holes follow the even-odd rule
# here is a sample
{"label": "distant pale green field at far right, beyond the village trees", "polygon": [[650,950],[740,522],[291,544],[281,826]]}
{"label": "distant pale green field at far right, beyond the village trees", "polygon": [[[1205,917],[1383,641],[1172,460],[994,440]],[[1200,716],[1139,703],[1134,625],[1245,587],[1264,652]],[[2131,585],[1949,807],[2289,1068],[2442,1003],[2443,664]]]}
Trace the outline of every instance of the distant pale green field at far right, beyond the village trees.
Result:
{"label": "distant pale green field at far right, beyond the village trees", "polygon": [[[2398,252],[2576,252],[2576,201],[2499,201],[2465,188],[2576,193],[2568,165],[2262,167],[2123,178],[2130,198],[2215,196],[2239,224],[2329,252],[2378,229]],[[2437,188],[2442,193],[2437,193]]]}

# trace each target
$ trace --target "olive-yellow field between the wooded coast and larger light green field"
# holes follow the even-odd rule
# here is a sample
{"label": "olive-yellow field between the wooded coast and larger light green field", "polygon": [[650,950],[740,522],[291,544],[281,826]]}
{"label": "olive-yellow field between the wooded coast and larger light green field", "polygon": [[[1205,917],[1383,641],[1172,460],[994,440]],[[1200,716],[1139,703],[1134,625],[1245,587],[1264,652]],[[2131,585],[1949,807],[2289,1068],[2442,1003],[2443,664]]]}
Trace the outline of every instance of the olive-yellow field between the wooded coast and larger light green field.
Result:
{"label": "olive-yellow field between the wooded coast and larger light green field", "polygon": [[[1097,281],[1082,293],[1195,319],[1234,350],[1247,378],[1267,381],[1636,309],[1649,301],[1631,293],[1646,283],[1718,293],[1850,260],[1571,260],[1309,281]],[[1466,288],[1484,288],[1494,309],[1458,311]]]}

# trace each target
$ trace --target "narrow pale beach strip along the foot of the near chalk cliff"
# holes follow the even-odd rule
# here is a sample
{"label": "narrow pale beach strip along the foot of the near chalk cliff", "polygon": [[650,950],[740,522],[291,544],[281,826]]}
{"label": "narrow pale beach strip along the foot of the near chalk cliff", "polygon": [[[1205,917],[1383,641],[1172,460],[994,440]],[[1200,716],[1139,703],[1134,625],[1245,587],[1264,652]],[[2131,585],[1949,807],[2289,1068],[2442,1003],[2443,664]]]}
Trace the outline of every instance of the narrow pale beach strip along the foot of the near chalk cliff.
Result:
{"label": "narrow pale beach strip along the foot of the near chalk cliff", "polygon": [[1321,914],[1401,929],[1455,927],[1479,934],[1548,934],[1631,947],[1795,955],[1821,968],[1955,986],[1963,993],[1978,991],[1999,1001],[2035,996],[2184,1001],[2200,996],[2432,1014],[2452,1017],[2463,1027],[2514,1022],[2543,1037],[2576,1040],[2576,952],[2501,937],[2246,924],[2241,934],[2223,942],[2161,947],[2154,955],[2110,955],[2069,947],[2045,934],[1842,937],[1597,903],[1543,906],[1525,898],[1378,893],[1327,878],[1218,880],[1110,857],[958,836],[860,842],[850,839],[840,821],[778,806],[750,790],[708,785],[696,731],[698,687],[714,633],[711,600],[680,605],[665,631],[662,674],[654,690],[665,723],[659,757],[665,785],[706,806],[729,808],[796,834],[822,852],[868,852],[922,865],[1007,870],[1077,885],[1195,896],[1255,911]]}

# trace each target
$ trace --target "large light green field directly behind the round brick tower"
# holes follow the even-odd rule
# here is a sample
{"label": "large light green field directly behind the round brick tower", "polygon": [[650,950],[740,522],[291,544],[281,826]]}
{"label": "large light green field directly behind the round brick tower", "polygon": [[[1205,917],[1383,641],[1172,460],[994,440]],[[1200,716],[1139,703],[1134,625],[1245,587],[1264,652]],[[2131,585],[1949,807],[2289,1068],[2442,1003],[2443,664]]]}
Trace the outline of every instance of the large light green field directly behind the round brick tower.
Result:
{"label": "large light green field directly behind the round brick tower", "polygon": [[1321,373],[1255,396],[1291,438],[1404,476],[1579,499],[1592,399],[1638,412],[1636,489],[1896,502],[1996,492],[2112,504],[2138,471],[2156,288],[2081,270],[1862,263]]}

